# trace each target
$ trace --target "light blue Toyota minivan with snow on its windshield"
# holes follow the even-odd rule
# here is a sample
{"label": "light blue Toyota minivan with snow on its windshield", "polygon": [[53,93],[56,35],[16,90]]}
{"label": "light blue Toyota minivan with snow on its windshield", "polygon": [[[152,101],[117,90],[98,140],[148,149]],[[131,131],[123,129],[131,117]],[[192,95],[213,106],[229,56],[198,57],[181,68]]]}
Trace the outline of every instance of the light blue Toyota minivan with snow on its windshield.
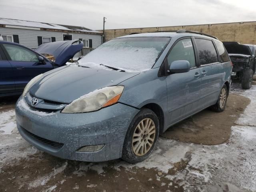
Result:
{"label": "light blue Toyota minivan with snow on its windshield", "polygon": [[136,163],[159,133],[225,109],[232,62],[217,38],[186,30],[110,40],[32,79],[16,103],[20,135],[70,160]]}

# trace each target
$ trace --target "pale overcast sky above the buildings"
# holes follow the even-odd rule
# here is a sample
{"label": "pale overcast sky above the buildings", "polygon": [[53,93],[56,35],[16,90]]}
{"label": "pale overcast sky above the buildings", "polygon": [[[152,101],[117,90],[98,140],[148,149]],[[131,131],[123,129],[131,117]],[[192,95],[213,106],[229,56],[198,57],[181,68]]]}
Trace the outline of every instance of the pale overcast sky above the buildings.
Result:
{"label": "pale overcast sky above the buildings", "polygon": [[[241,3],[242,2],[242,3]],[[256,0],[0,0],[0,17],[106,29],[256,21]]]}

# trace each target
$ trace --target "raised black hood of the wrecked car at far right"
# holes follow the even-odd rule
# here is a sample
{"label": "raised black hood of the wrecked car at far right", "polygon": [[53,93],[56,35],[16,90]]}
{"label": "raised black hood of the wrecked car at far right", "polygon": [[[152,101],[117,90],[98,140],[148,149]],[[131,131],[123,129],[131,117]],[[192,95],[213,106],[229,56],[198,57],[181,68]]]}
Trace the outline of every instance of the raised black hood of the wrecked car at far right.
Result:
{"label": "raised black hood of the wrecked car at far right", "polygon": [[247,45],[242,45],[238,42],[223,42],[223,44],[228,54],[252,55],[252,51]]}

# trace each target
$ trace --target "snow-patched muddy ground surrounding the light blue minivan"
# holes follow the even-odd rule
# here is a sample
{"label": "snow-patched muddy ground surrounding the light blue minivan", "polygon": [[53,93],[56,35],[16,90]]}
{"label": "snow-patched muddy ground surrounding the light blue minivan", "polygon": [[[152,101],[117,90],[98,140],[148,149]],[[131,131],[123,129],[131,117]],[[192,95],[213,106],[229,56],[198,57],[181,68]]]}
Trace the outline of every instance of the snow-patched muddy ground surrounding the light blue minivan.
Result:
{"label": "snow-patched muddy ground surrounding the light blue minivan", "polygon": [[[224,118],[218,117],[218,124],[212,123],[221,130],[227,116],[235,117],[231,118],[234,122],[228,140],[204,145],[160,137],[150,158],[138,164],[122,160],[78,162],[41,152],[18,134],[14,112],[17,98],[2,100],[0,192],[256,191],[256,86],[250,90],[236,86],[231,94],[250,99],[250,104],[239,114],[224,111]],[[229,107],[236,106],[236,102],[241,100],[232,100]],[[209,118],[214,115],[206,112]],[[201,118],[206,118],[205,114]],[[187,123],[184,121],[183,126]]]}

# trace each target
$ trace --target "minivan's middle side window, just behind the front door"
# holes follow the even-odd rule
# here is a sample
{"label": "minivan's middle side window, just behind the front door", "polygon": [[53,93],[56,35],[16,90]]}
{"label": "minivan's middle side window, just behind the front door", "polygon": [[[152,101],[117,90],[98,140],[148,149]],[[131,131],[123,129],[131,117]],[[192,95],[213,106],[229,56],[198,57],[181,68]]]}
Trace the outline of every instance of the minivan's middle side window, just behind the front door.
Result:
{"label": "minivan's middle side window, just behind the front door", "polygon": [[211,40],[195,38],[195,41],[200,65],[218,62],[217,53]]}

